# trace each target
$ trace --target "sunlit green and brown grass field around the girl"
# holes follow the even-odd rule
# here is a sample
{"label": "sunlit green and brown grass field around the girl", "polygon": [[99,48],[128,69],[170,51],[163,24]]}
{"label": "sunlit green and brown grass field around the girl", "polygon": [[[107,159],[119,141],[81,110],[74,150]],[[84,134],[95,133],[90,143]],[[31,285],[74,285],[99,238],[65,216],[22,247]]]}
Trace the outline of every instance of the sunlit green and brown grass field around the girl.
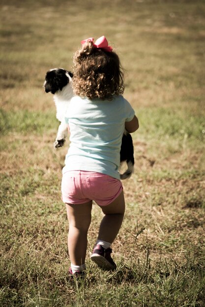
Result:
{"label": "sunlit green and brown grass field around the girl", "polygon": [[[1,0],[0,20],[0,306],[205,307],[205,2]],[[76,282],[60,199],[68,141],[54,150],[59,123],[42,85],[101,35],[120,56],[140,128],[117,271],[89,259],[93,205],[87,276]]]}

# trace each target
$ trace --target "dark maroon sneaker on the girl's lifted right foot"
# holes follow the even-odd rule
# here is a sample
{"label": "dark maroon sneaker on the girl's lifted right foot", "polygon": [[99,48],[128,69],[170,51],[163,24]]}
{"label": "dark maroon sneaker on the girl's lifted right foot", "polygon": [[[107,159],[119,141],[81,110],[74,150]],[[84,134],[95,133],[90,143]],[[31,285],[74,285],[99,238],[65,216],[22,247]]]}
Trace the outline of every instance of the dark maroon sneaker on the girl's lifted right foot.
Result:
{"label": "dark maroon sneaker on the girl's lifted right foot", "polygon": [[100,268],[104,270],[115,270],[117,268],[115,262],[110,256],[111,248],[104,249],[100,244],[95,245],[91,260],[94,261]]}

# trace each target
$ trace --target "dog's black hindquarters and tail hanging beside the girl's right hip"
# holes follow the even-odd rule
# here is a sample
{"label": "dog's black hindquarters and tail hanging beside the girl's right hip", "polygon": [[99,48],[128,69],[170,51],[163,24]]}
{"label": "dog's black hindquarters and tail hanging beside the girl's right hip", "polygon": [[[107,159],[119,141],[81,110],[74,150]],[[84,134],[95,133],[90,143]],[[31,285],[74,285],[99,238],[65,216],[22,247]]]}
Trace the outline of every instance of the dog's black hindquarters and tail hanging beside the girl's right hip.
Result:
{"label": "dog's black hindquarters and tail hanging beside the girl's right hip", "polygon": [[127,170],[123,174],[120,174],[121,180],[128,179],[132,176],[135,164],[132,137],[126,131],[122,137],[122,145],[120,150],[120,162],[123,161],[126,161],[127,163]]}

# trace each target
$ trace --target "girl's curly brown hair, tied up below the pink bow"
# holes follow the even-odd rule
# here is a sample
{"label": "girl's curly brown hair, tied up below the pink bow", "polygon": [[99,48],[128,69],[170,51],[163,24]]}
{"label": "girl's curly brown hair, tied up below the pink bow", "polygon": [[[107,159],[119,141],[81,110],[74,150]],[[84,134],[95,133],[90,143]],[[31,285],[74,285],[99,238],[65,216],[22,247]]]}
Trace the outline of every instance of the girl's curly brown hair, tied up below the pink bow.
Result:
{"label": "girl's curly brown hair, tied up below the pink bow", "polygon": [[73,58],[73,89],[76,95],[90,99],[112,100],[124,92],[124,73],[118,55],[87,41]]}

